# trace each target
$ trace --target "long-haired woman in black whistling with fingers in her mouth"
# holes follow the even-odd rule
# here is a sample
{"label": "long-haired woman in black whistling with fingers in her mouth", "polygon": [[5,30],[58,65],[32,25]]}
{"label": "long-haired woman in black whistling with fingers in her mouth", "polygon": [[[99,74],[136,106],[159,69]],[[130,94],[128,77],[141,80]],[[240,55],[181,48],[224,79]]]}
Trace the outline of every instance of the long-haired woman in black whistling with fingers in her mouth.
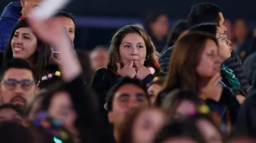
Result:
{"label": "long-haired woman in black whistling with fingers in her mouth", "polygon": [[106,93],[122,76],[152,82],[160,73],[155,60],[155,46],[148,34],[134,25],[126,25],[114,34],[106,68],[98,69],[92,77],[91,87],[104,105]]}

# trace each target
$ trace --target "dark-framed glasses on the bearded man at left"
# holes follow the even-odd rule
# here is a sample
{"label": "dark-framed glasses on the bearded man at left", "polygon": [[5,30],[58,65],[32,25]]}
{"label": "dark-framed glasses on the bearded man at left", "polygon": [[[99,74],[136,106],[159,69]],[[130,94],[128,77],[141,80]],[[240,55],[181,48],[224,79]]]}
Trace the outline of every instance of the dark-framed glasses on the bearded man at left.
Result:
{"label": "dark-framed glasses on the bearded man at left", "polygon": [[3,81],[2,83],[5,86],[5,88],[8,90],[14,90],[18,84],[24,90],[30,90],[33,87],[33,85],[35,85],[35,82],[32,80],[17,81],[15,79],[7,79],[7,80]]}

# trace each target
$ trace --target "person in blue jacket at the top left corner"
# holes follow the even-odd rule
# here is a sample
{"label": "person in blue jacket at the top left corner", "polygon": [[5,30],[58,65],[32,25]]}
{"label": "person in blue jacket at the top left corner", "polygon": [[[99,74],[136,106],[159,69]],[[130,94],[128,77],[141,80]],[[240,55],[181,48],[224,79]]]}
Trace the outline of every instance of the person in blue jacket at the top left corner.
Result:
{"label": "person in blue jacket at the top left corner", "polygon": [[0,18],[0,50],[4,50],[15,23],[22,16],[27,14],[28,7],[38,5],[42,0],[20,0],[7,5]]}

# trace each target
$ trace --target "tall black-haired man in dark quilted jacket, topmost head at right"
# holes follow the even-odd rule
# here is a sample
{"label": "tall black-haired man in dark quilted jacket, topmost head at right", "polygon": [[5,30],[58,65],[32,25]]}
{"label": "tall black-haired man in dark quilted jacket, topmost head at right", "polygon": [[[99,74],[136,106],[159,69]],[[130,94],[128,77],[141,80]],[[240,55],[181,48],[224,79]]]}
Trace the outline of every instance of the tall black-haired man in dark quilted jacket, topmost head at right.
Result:
{"label": "tall black-haired man in dark quilted jacket, topmost head at right", "polygon": [[[192,28],[196,24],[205,22],[217,24],[224,33],[227,31],[227,28],[224,25],[225,19],[222,11],[220,11],[217,5],[211,3],[200,3],[193,5],[188,16],[189,28]],[[161,69],[164,72],[168,71],[168,63],[170,61],[173,47],[174,46],[169,47],[166,51],[164,51],[164,53],[161,54],[159,58]],[[234,50],[231,52],[231,57],[224,61],[224,64],[234,72],[237,79],[241,83],[241,88],[246,91],[250,87],[250,81],[244,73],[240,59]]]}

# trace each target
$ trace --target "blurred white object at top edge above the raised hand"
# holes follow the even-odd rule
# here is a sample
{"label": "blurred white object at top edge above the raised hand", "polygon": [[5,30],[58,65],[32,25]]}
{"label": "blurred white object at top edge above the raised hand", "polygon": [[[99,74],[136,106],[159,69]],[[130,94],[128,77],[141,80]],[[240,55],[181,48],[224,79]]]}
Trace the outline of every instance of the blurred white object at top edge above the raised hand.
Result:
{"label": "blurred white object at top edge above the raised hand", "polygon": [[31,11],[33,18],[46,20],[52,17],[56,12],[65,7],[71,0],[44,0],[39,6]]}

